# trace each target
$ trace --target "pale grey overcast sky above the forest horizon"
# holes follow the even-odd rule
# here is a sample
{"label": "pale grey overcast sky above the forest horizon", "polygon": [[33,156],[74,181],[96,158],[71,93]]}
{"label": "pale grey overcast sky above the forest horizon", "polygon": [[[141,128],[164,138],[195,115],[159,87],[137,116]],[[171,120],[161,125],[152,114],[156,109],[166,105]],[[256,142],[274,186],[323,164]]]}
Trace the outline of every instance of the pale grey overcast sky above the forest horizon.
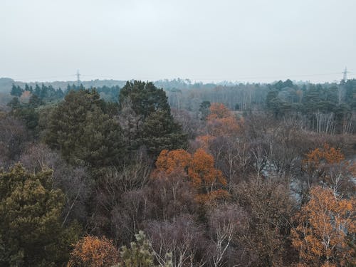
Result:
{"label": "pale grey overcast sky above the forest horizon", "polygon": [[355,0],[0,0],[0,77],[333,81],[347,66],[356,78],[355,11]]}

